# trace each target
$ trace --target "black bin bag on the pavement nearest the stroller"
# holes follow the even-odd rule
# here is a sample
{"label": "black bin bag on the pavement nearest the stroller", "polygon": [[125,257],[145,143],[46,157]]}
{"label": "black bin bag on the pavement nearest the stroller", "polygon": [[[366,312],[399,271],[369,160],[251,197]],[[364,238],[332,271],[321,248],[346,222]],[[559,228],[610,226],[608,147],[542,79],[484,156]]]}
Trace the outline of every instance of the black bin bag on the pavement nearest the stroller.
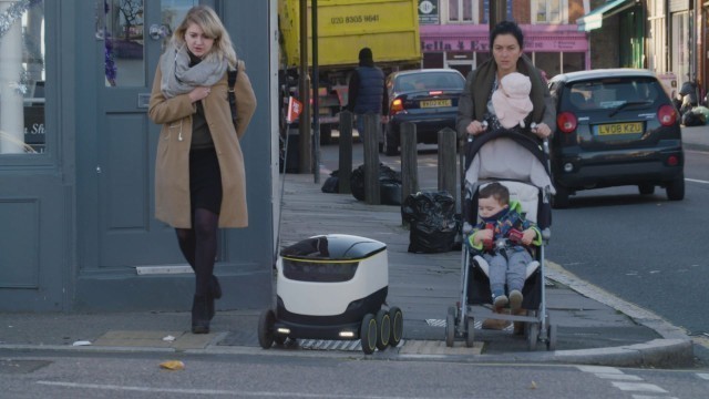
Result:
{"label": "black bin bag on the pavement nearest the stroller", "polygon": [[446,191],[409,195],[401,205],[401,215],[410,225],[409,252],[453,249],[460,222],[455,216],[455,198]]}

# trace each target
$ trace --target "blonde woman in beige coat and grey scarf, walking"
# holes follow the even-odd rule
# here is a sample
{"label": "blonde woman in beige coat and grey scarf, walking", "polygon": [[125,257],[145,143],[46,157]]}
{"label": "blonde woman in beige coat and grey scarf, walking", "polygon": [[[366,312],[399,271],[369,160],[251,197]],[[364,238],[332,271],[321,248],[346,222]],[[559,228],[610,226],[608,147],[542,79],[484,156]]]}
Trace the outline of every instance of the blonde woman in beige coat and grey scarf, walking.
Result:
{"label": "blonde woman in beige coat and grey scarf, walking", "polygon": [[[237,69],[237,121],[232,120],[227,70]],[[162,124],[155,162],[155,216],[177,233],[195,272],[192,332],[209,332],[219,227],[246,227],[246,174],[239,139],[256,109],[243,61],[213,9],[192,8],[161,57],[148,115]]]}

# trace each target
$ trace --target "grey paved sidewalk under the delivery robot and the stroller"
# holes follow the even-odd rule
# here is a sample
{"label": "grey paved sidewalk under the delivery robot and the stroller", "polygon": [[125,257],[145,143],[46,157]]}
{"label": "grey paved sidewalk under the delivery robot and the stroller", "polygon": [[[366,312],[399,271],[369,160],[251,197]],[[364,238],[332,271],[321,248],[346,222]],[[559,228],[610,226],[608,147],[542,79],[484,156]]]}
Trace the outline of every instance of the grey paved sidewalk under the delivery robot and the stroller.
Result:
{"label": "grey paved sidewalk under the delivery robot and the stroller", "polygon": [[[685,129],[688,149],[709,150],[709,127]],[[327,178],[323,175],[320,182]],[[557,362],[617,367],[689,367],[692,341],[660,317],[579,280],[546,263],[546,300],[557,325],[555,351],[540,342],[528,351],[524,336],[480,329],[475,345],[445,347],[448,307],[459,300],[461,254],[412,254],[399,206],[367,205],[349,194],[325,194],[311,175],[287,174],[281,247],[319,234],[351,234],[387,244],[388,304],[403,311],[399,347],[372,358],[465,362]],[[217,303],[218,305],[218,303]],[[192,335],[184,313],[1,314],[0,350],[163,351],[264,356],[364,357],[359,341],[299,340],[287,348],[258,346],[260,309],[217,311],[213,332]]]}

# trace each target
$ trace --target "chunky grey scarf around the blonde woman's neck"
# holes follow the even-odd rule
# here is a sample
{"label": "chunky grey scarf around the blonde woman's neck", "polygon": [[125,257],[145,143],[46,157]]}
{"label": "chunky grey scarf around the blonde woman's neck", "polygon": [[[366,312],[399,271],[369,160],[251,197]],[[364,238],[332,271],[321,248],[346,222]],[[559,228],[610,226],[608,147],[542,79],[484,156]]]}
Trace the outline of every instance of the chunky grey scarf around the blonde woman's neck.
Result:
{"label": "chunky grey scarf around the blonde woman's neck", "polygon": [[179,49],[171,42],[160,60],[163,74],[161,90],[166,98],[191,92],[196,86],[210,86],[224,78],[228,62],[225,59],[205,59],[189,68],[187,45]]}

